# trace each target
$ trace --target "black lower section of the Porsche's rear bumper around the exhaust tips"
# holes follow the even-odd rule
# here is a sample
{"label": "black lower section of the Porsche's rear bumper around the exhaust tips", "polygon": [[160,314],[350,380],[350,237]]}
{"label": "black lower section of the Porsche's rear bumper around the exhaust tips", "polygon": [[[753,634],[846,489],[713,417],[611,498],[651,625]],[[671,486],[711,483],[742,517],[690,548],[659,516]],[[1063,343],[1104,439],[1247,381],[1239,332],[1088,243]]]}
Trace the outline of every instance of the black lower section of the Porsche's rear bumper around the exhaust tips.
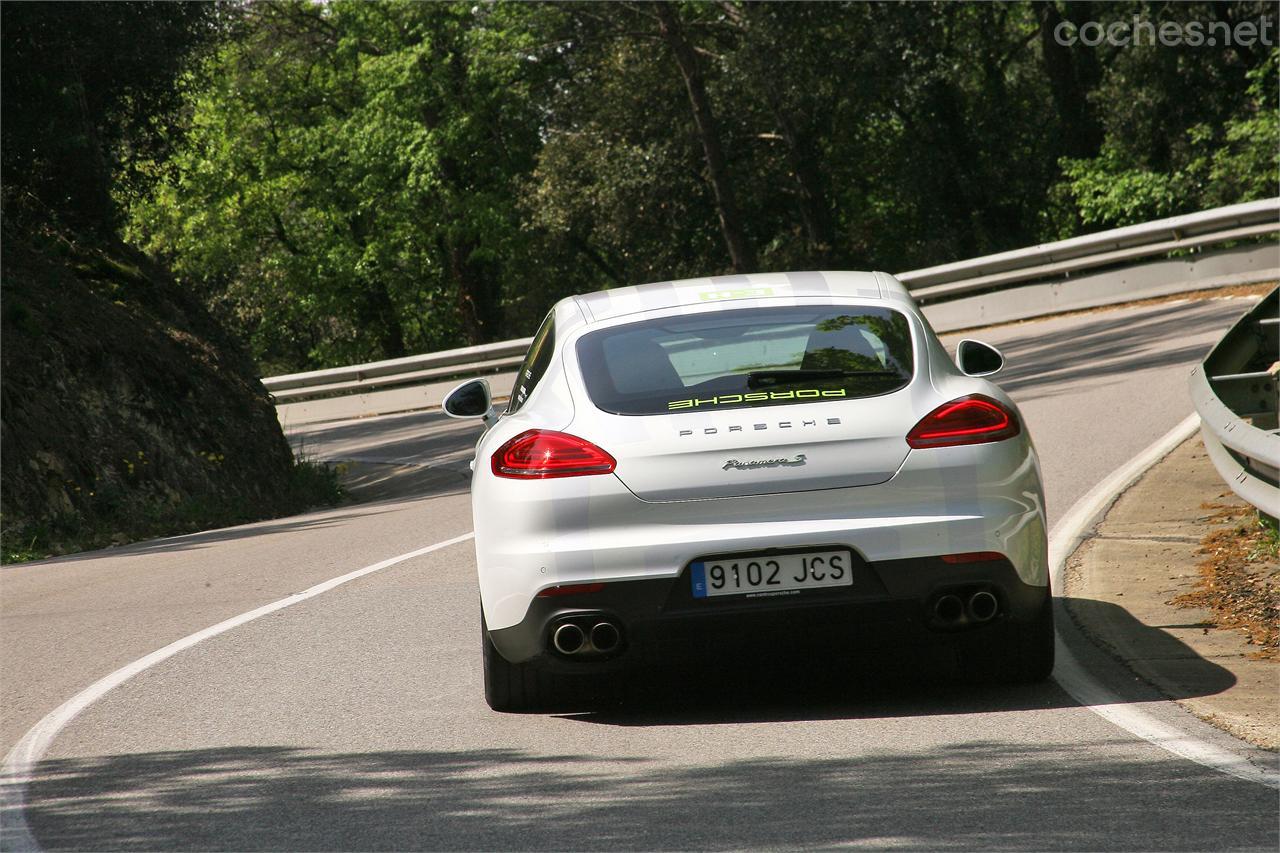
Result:
{"label": "black lower section of the Porsche's rear bumper around the exhaust tips", "polygon": [[[968,616],[940,621],[934,605],[941,596],[966,599],[978,590],[996,596],[996,616],[983,622]],[[598,592],[534,598],[522,620],[490,630],[490,637],[508,661],[536,660],[559,671],[735,660],[753,646],[771,653],[809,647],[824,654],[855,656],[886,646],[946,642],[979,630],[998,633],[1010,622],[1032,621],[1048,594],[1047,585],[1024,583],[1007,560],[859,562],[847,589],[763,599],[696,599],[686,569],[676,579],[617,581]],[[554,651],[552,634],[558,625],[573,621],[589,630],[600,620],[621,629],[616,651],[595,656]]]}

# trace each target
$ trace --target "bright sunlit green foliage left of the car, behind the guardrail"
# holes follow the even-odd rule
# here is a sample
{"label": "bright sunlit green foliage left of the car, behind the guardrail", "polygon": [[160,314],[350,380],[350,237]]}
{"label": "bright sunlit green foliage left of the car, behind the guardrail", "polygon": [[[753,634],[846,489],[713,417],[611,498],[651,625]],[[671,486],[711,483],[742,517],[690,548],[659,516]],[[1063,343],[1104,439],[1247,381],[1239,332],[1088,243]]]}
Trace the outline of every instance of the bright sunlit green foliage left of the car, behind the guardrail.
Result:
{"label": "bright sunlit green foliage left of the car, behind the guardrail", "polygon": [[[262,4],[188,79],[187,142],[129,233],[265,369],[504,338],[539,146],[532,6]],[[157,167],[159,168],[159,167]]]}

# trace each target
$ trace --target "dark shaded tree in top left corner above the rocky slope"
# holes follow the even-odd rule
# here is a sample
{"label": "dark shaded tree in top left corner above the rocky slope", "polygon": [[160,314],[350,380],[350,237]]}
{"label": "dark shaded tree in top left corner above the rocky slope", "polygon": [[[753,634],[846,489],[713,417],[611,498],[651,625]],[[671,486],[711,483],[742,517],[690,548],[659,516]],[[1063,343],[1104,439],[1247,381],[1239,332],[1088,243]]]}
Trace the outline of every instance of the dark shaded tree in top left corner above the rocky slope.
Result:
{"label": "dark shaded tree in top left corner above the rocky slope", "polygon": [[218,31],[209,3],[8,3],[0,6],[4,206],[97,233],[119,224],[113,187],[160,159],[188,55]]}

